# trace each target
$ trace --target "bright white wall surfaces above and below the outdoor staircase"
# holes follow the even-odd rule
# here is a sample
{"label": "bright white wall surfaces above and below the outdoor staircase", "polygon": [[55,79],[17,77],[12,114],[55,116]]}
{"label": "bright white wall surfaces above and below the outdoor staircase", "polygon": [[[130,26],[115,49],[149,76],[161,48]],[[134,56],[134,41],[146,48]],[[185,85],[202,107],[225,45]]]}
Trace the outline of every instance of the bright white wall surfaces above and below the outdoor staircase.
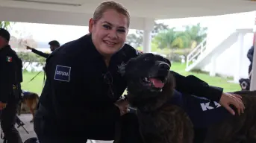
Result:
{"label": "bright white wall surfaces above and below the outdoor staircase", "polygon": [[[207,48],[215,48],[220,42],[225,40],[236,29],[253,28],[255,23],[255,13],[240,13],[226,16],[216,16],[211,20],[211,25],[208,27],[207,34]],[[249,60],[247,58],[247,51],[251,48],[253,42],[253,34],[246,34],[244,36],[242,69],[240,77],[248,77]],[[240,45],[238,42],[234,43],[216,60],[216,73],[227,76],[234,76],[237,70],[236,61],[239,56]],[[205,66],[203,71],[210,71],[210,63]]]}

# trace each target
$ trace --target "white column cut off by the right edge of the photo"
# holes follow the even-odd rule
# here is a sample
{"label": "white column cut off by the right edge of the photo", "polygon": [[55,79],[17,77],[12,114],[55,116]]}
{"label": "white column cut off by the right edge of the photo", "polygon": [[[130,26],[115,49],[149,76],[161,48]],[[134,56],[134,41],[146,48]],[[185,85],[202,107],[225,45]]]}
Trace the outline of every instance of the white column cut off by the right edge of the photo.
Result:
{"label": "white column cut off by the right edge of the photo", "polygon": [[[255,29],[256,30],[256,29]],[[255,31],[255,46],[256,46],[256,31]],[[256,90],[256,50],[253,54],[253,62],[252,62],[252,77],[251,77],[251,86],[250,90]]]}

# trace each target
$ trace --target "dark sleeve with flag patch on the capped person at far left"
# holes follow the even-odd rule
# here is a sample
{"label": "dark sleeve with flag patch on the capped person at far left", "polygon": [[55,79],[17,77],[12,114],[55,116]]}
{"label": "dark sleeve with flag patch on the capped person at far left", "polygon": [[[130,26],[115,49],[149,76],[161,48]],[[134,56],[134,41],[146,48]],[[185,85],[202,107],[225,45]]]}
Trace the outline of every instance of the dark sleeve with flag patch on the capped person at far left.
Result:
{"label": "dark sleeve with flag patch on the capped person at far left", "polygon": [[8,96],[13,90],[15,64],[13,57],[4,56],[0,61],[0,101],[7,103]]}

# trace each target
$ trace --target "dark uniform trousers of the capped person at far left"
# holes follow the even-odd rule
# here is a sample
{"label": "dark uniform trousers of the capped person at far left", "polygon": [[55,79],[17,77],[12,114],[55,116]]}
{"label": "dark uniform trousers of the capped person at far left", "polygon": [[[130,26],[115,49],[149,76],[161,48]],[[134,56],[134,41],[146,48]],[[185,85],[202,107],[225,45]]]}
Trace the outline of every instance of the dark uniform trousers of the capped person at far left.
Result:
{"label": "dark uniform trousers of the capped person at far left", "polygon": [[17,89],[13,89],[10,100],[7,102],[6,108],[1,111],[1,130],[4,133],[4,139],[7,143],[22,143],[22,139],[16,130],[16,112],[18,107]]}

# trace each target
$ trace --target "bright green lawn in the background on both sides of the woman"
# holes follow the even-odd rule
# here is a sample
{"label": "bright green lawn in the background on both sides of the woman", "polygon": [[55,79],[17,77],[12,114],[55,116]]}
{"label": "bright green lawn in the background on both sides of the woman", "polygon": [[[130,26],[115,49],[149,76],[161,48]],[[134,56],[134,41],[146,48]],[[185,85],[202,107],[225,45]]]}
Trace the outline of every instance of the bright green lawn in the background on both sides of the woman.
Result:
{"label": "bright green lawn in the background on both sides of the woman", "polygon": [[[209,83],[211,86],[219,86],[224,88],[225,92],[233,92],[236,90],[240,90],[239,84],[236,83],[228,83],[227,78],[223,77],[210,77],[209,74],[202,74],[199,72],[187,72],[185,71],[185,64],[181,63],[172,63],[172,70],[178,72],[182,75],[188,75],[193,74],[196,77],[199,77],[202,80],[205,80],[207,83]],[[31,92],[37,92],[40,94],[43,89],[43,72],[37,75],[37,77],[34,78],[31,82],[31,78],[33,78],[37,72],[24,72],[23,73],[23,83],[22,83],[22,89],[28,90]]]}

